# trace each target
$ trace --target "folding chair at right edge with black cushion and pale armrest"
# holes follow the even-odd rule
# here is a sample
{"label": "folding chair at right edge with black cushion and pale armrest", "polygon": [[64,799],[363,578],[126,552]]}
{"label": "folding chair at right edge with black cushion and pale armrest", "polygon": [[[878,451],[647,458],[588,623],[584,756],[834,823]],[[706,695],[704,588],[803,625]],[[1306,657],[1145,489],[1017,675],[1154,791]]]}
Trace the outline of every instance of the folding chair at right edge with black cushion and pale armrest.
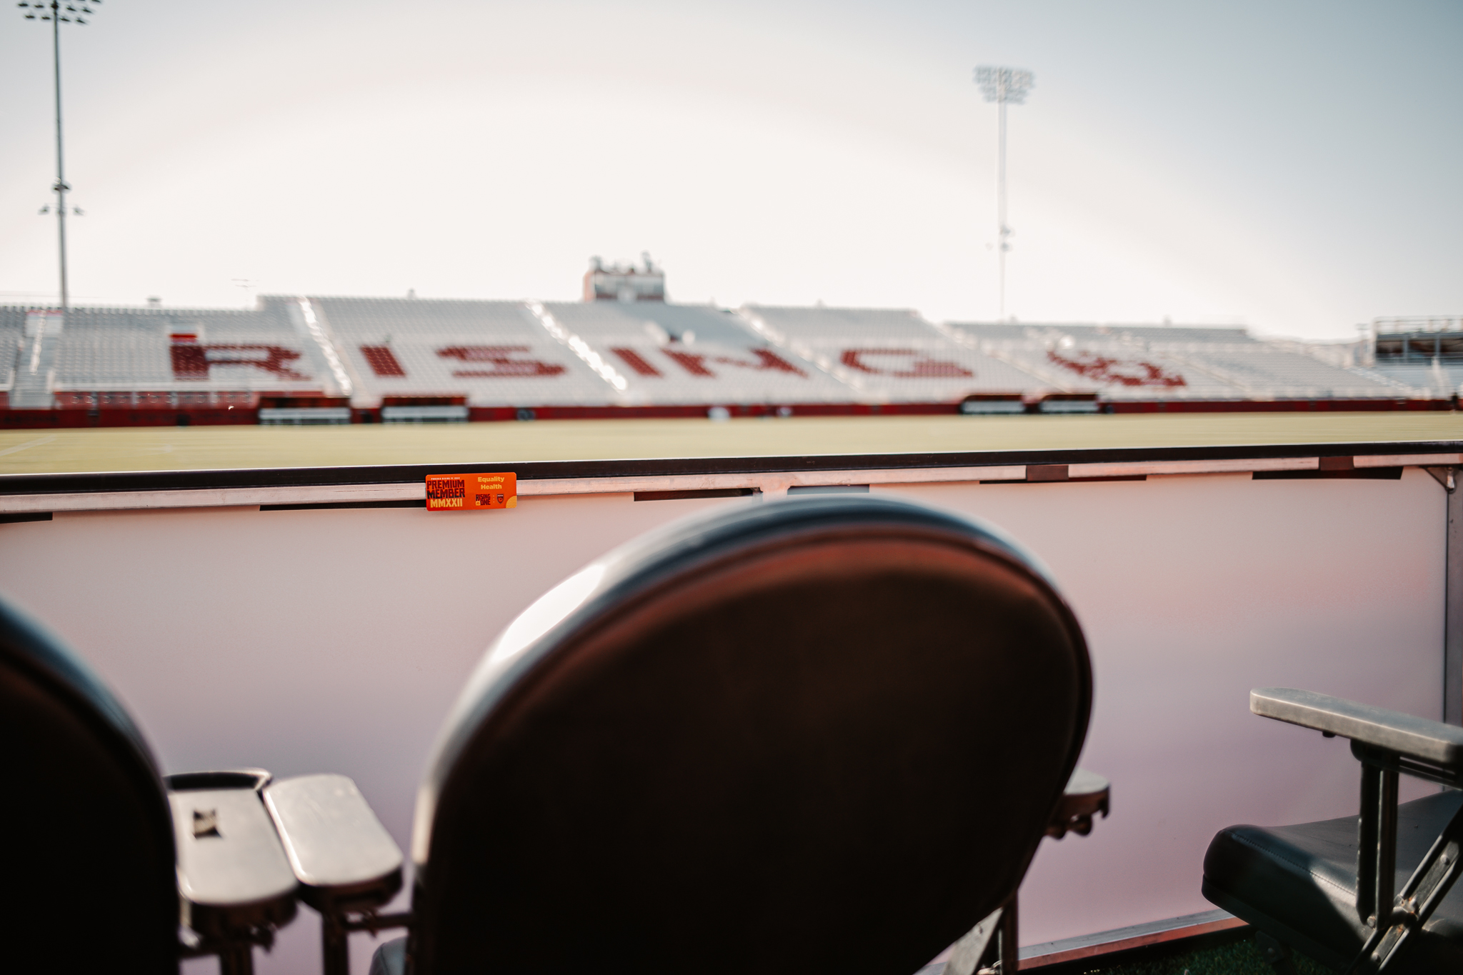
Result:
{"label": "folding chair at right edge with black cushion and pale armrest", "polygon": [[[1287,687],[1249,693],[1263,718],[1352,743],[1361,817],[1230,826],[1204,855],[1204,896],[1346,972],[1463,968],[1463,728]],[[1397,803],[1397,775],[1445,789]]]}

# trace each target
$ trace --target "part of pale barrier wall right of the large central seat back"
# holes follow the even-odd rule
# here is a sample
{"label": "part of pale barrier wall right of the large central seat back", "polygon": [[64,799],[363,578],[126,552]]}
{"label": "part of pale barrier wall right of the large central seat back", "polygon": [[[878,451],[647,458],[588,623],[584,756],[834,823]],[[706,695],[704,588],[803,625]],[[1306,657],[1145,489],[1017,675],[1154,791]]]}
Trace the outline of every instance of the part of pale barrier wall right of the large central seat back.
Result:
{"label": "part of pale barrier wall right of the large central seat back", "polygon": [[1423,471],[898,493],[1009,531],[1087,633],[1081,763],[1112,781],[1113,811],[1091,836],[1043,842],[1023,943],[1213,909],[1200,881],[1216,832],[1356,813],[1349,744],[1251,715],[1251,687],[1441,718],[1447,496]]}

